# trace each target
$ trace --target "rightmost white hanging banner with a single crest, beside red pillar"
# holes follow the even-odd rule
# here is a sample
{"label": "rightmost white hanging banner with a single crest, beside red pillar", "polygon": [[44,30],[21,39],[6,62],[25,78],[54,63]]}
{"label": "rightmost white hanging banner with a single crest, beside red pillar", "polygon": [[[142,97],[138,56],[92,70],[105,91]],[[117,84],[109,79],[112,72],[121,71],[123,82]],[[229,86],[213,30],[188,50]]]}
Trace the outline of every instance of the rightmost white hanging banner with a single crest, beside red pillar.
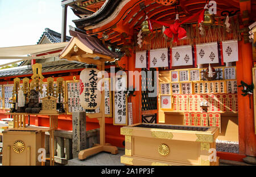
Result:
{"label": "rightmost white hanging banner with a single crest, beside red pillar", "polygon": [[237,40],[222,41],[222,51],[224,62],[238,61]]}

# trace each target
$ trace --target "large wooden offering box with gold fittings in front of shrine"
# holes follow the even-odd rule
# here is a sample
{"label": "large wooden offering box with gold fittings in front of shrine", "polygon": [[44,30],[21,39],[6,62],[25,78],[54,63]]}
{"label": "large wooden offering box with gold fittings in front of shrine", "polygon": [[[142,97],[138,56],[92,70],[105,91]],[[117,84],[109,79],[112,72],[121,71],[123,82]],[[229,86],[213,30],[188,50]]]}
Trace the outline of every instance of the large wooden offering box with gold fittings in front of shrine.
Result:
{"label": "large wooden offering box with gold fittings in front of shrine", "polygon": [[135,166],[218,165],[218,157],[214,159],[218,132],[217,127],[143,123],[122,127],[125,155],[121,163]]}

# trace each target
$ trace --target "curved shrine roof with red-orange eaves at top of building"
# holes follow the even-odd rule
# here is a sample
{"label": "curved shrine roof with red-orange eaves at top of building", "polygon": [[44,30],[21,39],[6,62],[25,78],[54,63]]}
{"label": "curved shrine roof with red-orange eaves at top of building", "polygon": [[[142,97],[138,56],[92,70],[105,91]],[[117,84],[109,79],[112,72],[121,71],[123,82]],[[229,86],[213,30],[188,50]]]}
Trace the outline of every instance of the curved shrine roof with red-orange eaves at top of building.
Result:
{"label": "curved shrine roof with red-orange eaves at top of building", "polygon": [[[240,0],[216,0],[216,2],[216,16],[240,14]],[[105,33],[109,36],[106,41],[122,45],[132,39],[134,30],[141,28],[145,12],[150,19],[173,23],[176,11],[182,21],[203,9],[205,3],[205,0],[179,0],[176,5],[165,6],[155,0],[106,0],[97,12],[73,22],[77,28],[86,30],[88,35],[97,35],[98,39],[103,39],[102,35]],[[188,23],[196,21],[195,18]],[[154,26],[160,28],[158,24]]]}

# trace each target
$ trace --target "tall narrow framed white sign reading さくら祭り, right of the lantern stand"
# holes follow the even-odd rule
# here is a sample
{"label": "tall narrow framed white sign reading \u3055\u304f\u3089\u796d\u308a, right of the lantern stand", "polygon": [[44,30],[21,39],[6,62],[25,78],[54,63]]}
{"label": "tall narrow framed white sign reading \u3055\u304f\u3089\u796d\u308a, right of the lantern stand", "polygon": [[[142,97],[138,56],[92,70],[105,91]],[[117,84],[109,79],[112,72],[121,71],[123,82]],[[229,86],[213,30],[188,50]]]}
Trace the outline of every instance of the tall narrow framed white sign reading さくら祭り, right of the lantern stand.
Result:
{"label": "tall narrow framed white sign reading \u3055\u304f\u3089\u796d\u308a, right of the lantern stand", "polygon": [[127,109],[127,95],[125,88],[126,76],[119,75],[114,79],[114,125],[127,125],[128,124],[128,109]]}

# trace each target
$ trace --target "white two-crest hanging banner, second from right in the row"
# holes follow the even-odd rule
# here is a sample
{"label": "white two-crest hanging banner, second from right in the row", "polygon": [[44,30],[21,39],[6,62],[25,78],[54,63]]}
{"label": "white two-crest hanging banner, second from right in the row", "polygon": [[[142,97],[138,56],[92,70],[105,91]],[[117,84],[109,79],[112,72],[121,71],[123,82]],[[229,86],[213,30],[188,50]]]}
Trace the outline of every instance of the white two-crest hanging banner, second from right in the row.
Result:
{"label": "white two-crest hanging banner, second from right in the row", "polygon": [[196,45],[197,64],[217,64],[218,63],[218,44],[204,43]]}

